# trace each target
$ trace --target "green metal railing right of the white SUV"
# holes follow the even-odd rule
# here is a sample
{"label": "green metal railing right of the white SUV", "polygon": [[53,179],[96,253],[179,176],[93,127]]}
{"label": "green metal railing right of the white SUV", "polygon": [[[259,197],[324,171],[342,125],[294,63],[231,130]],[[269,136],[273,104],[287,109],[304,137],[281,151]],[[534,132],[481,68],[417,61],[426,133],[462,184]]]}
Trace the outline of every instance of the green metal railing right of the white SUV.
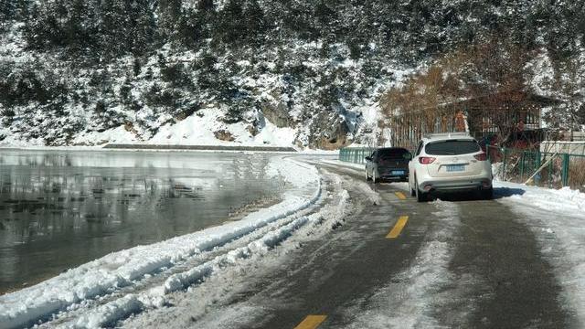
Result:
{"label": "green metal railing right of the white SUV", "polygon": [[[487,146],[487,154],[492,164],[495,164],[494,175],[503,180],[524,183],[534,175],[530,184],[585,189],[585,155],[519,150],[492,145]],[[537,173],[538,169],[540,171]]]}

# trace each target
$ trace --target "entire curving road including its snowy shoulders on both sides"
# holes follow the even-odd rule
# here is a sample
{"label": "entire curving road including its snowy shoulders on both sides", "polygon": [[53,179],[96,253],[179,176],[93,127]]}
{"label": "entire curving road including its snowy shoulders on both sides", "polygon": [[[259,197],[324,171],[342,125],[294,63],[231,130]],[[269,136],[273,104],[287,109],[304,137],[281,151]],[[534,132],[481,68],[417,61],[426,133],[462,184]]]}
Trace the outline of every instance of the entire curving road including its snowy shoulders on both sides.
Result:
{"label": "entire curving road including its snowy shoulders on both sides", "polygon": [[498,182],[494,201],[418,204],[316,159],[271,164],[297,187],[280,204],[0,296],[0,328],[585,324],[583,194]]}

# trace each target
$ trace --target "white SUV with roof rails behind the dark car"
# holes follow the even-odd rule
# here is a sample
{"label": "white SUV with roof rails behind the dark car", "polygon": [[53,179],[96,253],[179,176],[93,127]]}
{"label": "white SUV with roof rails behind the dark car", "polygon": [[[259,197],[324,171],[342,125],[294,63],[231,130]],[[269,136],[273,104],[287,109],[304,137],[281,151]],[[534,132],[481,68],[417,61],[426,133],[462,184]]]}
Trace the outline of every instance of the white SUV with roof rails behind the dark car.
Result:
{"label": "white SUV with roof rails behind the dark car", "polygon": [[477,191],[493,196],[492,165],[467,133],[433,133],[419,143],[409,163],[410,194],[419,202],[431,192]]}

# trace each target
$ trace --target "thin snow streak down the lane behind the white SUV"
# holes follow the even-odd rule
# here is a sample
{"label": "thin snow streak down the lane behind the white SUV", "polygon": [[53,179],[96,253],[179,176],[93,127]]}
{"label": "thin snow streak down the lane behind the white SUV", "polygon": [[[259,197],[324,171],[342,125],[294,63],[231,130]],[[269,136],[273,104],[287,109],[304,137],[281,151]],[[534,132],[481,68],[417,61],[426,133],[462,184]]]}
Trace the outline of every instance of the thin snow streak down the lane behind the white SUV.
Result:
{"label": "thin snow streak down the lane behind the white SUV", "polygon": [[[441,289],[452,283],[448,270],[452,258],[449,240],[461,225],[455,203],[435,201],[436,226],[408,270],[378,290],[367,301],[357,301],[347,310],[356,318],[350,328],[432,328],[438,323],[433,310],[441,301]],[[445,299],[453,296],[444,296]],[[363,302],[363,303],[362,303]],[[365,306],[364,306],[365,305]],[[365,310],[363,308],[366,308]],[[471,309],[471,308],[470,308]]]}

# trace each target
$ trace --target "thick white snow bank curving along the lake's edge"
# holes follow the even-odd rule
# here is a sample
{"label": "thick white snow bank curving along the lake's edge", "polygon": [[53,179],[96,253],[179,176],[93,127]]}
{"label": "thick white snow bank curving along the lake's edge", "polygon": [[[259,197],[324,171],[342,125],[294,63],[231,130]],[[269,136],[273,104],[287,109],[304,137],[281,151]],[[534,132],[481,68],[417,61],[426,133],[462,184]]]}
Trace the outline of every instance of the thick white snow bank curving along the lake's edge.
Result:
{"label": "thick white snow bank curving along the lake's edge", "polygon": [[[0,296],[0,327],[23,326],[47,319],[69,305],[131,285],[145,275],[164,271],[202,251],[219,247],[314,204],[321,191],[316,168],[282,157],[272,158],[270,165],[273,174],[282,175],[297,187],[286,193],[280,204],[220,227],[114,252],[30,288]],[[102,318],[107,323],[109,318],[119,315],[116,312],[130,312],[136,305],[139,304],[129,298],[121,305],[112,306],[112,312],[106,308],[102,313],[110,315]]]}

